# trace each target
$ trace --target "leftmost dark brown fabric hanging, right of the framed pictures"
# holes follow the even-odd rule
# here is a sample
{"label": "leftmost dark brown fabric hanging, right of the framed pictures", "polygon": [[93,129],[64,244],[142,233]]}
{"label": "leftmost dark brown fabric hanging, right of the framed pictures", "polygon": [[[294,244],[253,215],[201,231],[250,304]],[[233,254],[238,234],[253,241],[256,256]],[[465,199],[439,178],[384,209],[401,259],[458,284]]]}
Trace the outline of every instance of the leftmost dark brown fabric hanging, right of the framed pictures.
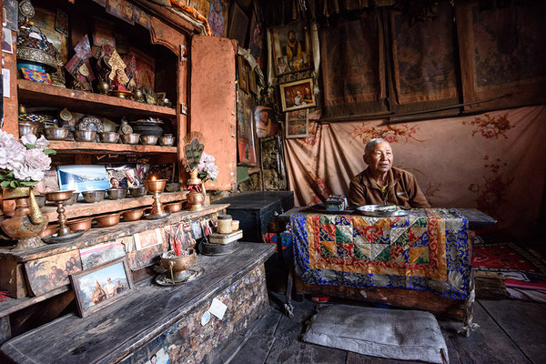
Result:
{"label": "leftmost dark brown fabric hanging, right of the framed pictures", "polygon": [[384,109],[383,32],[379,13],[321,29],[325,116]]}

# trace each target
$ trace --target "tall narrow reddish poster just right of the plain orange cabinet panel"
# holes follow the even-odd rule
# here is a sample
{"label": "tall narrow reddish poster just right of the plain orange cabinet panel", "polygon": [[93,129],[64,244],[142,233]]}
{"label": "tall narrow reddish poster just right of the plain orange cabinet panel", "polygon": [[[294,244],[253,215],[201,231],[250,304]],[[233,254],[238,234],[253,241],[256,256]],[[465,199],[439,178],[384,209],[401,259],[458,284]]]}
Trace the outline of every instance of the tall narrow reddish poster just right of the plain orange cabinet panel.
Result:
{"label": "tall narrow reddish poster just right of the plain orange cabinet panel", "polygon": [[237,144],[240,165],[256,166],[256,148],[254,145],[254,123],[252,122],[251,96],[237,91]]}

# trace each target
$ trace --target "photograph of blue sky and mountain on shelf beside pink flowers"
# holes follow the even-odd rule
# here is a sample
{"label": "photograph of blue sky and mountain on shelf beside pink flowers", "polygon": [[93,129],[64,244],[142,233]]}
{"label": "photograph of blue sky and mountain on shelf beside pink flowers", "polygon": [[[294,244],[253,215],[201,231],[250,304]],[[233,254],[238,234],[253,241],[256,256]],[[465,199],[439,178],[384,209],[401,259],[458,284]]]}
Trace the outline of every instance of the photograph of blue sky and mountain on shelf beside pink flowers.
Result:
{"label": "photograph of blue sky and mountain on shelf beside pink flowers", "polygon": [[58,166],[57,176],[61,190],[73,189],[76,192],[82,192],[110,188],[105,166]]}

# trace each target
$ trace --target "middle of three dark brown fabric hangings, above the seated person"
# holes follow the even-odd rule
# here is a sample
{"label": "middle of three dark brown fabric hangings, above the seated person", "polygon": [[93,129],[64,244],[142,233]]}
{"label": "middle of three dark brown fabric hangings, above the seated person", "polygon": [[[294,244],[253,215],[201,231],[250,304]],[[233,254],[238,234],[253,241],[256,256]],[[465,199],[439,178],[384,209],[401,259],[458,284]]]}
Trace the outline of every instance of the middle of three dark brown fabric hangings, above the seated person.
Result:
{"label": "middle of three dark brown fabric hangings, above the seated person", "polygon": [[449,4],[438,17],[410,24],[409,15],[390,12],[396,102],[453,99],[458,104],[453,14]]}

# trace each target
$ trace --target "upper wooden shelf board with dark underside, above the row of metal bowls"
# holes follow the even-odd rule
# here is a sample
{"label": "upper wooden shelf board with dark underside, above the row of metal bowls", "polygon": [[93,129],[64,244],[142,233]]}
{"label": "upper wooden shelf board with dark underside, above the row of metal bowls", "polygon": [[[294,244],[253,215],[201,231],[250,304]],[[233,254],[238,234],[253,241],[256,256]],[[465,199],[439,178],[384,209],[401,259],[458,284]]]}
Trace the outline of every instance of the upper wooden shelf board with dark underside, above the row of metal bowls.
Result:
{"label": "upper wooden shelf board with dark underside, above the row of metal bowls", "polygon": [[18,79],[19,103],[25,106],[66,107],[78,113],[94,116],[142,118],[147,116],[175,117],[174,108],[148,105],[136,101],[45,85]]}

